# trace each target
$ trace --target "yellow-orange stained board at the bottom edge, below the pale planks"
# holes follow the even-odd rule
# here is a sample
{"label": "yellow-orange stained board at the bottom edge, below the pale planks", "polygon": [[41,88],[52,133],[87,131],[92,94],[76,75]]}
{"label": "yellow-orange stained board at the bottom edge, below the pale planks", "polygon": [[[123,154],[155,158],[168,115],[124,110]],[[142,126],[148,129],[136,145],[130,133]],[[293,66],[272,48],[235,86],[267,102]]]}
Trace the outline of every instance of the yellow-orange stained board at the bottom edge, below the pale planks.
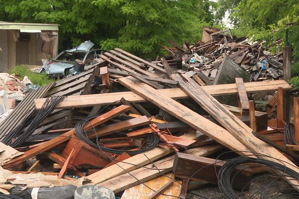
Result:
{"label": "yellow-orange stained board at the bottom edge, below the pale planks", "polygon": [[[161,188],[162,185],[165,185],[168,182],[172,182],[171,179],[174,178],[172,173],[168,173],[168,174],[166,174],[166,176],[159,176],[157,178],[149,180],[149,181],[145,182],[145,185],[147,185],[151,189],[157,191],[158,189]],[[177,182],[182,183],[181,180],[179,180]],[[168,188],[166,191],[163,192],[163,194],[171,195],[171,196],[179,196],[181,186],[178,183],[174,182],[170,188]],[[151,191],[149,188],[147,188],[145,185],[140,184],[140,185],[136,185],[135,187],[125,190],[121,199],[149,199],[149,196],[151,196],[151,194],[154,194],[154,192]],[[165,196],[160,195],[156,199],[163,199],[163,197],[165,198]],[[176,197],[167,197],[167,198],[168,199],[177,199]]]}

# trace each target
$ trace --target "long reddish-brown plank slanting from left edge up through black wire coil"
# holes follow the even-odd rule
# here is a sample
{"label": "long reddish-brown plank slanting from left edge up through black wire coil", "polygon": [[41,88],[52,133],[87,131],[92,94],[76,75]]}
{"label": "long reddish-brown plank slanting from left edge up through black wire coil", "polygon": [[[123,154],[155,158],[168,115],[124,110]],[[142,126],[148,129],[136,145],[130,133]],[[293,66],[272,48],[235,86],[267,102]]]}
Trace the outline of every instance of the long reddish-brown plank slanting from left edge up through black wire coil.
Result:
{"label": "long reddish-brown plank slanting from left edge up through black wire coil", "polygon": [[[130,110],[130,106],[127,105],[120,105],[104,114],[102,114],[101,116],[98,116],[97,118],[91,120],[85,127],[85,130],[90,130],[91,128],[100,125],[126,111]],[[62,134],[59,137],[55,137],[47,142],[42,143],[41,145],[34,147],[33,149],[30,149],[28,151],[26,151],[23,155],[18,156],[12,160],[10,160],[9,162],[6,162],[5,164],[1,165],[3,169],[7,169],[10,167],[13,167],[15,165],[18,165],[19,163],[32,158],[34,156],[36,156],[37,154],[40,154],[42,152],[45,152],[49,149],[54,148],[55,146],[67,141],[70,139],[71,135],[75,134],[75,129],[72,129],[64,134]]]}

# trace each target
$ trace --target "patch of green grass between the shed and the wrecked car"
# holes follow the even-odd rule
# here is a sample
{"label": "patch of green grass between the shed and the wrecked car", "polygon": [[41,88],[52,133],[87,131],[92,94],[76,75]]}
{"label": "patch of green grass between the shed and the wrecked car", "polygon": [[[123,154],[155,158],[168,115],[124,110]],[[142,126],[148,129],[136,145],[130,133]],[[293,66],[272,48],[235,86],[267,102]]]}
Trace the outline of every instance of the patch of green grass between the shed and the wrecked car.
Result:
{"label": "patch of green grass between the shed and the wrecked car", "polygon": [[17,65],[14,68],[7,71],[8,74],[14,74],[19,80],[22,80],[25,76],[29,78],[32,84],[38,86],[45,86],[55,82],[54,79],[49,79],[45,73],[35,73],[28,69],[26,66]]}

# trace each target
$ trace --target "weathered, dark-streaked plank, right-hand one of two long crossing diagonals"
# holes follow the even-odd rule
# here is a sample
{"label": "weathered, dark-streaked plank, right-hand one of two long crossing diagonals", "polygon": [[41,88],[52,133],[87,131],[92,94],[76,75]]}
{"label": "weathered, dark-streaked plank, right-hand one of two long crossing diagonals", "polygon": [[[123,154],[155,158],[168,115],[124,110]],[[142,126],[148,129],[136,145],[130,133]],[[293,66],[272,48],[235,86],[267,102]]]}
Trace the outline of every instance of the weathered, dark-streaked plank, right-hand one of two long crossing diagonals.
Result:
{"label": "weathered, dark-streaked plank, right-hand one of two long crossing diagonals", "polygon": [[[260,157],[266,160],[277,162],[282,164],[280,160],[289,164],[289,168],[299,172],[299,168],[284,156],[276,148],[267,145],[262,140],[256,138],[252,133],[254,132],[250,127],[244,124],[237,116],[227,110],[219,101],[215,100],[211,95],[201,89],[191,78],[182,74],[184,80],[177,74],[172,75],[172,78],[178,81],[179,86],[202,108],[204,108],[214,119],[216,119],[221,125],[223,125],[234,138],[237,138],[241,143],[247,146],[250,151],[255,153],[262,153],[269,157]],[[203,131],[203,133],[205,133]],[[219,140],[220,137],[215,139]],[[225,138],[225,139],[224,139]],[[222,136],[220,139],[226,140],[226,136]],[[273,157],[273,158],[270,158]],[[275,158],[275,159],[274,159]],[[298,181],[289,181],[295,189],[298,189]]]}

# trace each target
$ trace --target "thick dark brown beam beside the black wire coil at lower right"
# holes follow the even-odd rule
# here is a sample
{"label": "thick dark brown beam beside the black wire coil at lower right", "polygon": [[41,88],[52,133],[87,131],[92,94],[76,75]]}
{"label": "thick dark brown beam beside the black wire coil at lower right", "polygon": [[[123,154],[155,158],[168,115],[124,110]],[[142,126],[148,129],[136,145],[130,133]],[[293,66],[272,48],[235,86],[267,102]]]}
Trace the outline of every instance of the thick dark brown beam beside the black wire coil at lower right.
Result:
{"label": "thick dark brown beam beside the black wire coil at lower right", "polygon": [[[212,183],[217,185],[217,174],[226,161],[212,158],[198,157],[190,154],[176,153],[172,172],[175,177]],[[195,173],[197,171],[197,173]],[[234,178],[233,188],[249,189],[252,171],[250,169],[237,168],[232,172]]]}

